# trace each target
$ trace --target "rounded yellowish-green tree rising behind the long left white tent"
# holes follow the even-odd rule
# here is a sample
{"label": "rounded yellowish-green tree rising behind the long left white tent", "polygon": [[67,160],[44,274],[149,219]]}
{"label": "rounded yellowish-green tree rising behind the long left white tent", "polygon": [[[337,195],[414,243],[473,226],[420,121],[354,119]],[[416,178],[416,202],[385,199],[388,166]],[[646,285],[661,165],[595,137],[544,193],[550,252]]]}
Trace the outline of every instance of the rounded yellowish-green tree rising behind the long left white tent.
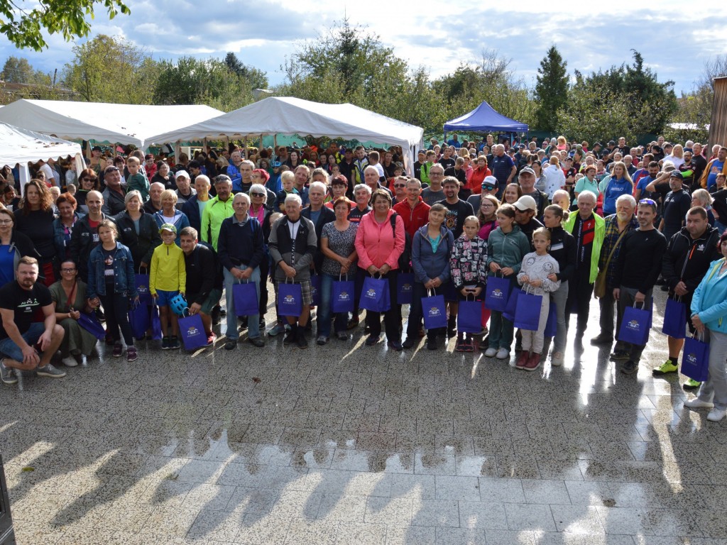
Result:
{"label": "rounded yellowish-green tree rising behind the long left white tent", "polygon": [[157,62],[121,37],[100,34],[73,47],[63,81],[87,102],[150,104]]}

